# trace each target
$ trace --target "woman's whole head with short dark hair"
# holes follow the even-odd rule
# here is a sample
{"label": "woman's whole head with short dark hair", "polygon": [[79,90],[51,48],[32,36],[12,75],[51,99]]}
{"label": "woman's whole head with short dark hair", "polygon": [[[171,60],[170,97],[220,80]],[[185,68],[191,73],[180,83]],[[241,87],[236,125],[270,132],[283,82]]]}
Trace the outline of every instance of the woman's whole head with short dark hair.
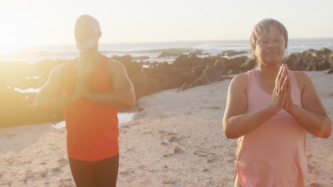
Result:
{"label": "woman's whole head with short dark hair", "polygon": [[288,33],[279,21],[263,19],[253,28],[250,43],[261,64],[280,64],[287,48]]}

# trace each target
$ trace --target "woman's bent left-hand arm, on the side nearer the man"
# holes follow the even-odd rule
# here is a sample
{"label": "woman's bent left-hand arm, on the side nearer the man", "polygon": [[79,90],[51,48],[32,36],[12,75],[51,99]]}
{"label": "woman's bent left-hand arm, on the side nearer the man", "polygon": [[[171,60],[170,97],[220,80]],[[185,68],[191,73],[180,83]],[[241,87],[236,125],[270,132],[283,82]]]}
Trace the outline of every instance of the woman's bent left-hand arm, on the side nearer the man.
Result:
{"label": "woman's bent left-hand arm, on the side nearer the man", "polygon": [[246,113],[248,78],[246,74],[234,77],[229,85],[226,111],[223,117],[224,135],[228,138],[241,137],[258,128],[280,111],[285,102],[288,80],[286,70],[281,68],[275,81],[272,102],[268,106]]}

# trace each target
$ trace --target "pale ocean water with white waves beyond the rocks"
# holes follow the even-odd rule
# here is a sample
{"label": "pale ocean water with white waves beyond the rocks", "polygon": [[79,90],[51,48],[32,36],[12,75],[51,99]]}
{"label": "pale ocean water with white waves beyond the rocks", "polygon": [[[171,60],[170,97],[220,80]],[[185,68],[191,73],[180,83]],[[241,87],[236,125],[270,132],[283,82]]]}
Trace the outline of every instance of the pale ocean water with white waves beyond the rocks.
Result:
{"label": "pale ocean water with white waves beyond the rocks", "polygon": [[[285,54],[303,52],[308,49],[320,50],[327,47],[333,50],[333,38],[290,39]],[[113,55],[147,56],[145,62],[172,62],[176,57],[158,56],[162,52],[192,52],[202,50],[205,55],[217,55],[225,50],[246,51],[251,56],[250,40],[213,40],[213,41],[174,41],[174,42],[137,42],[100,44],[100,52],[107,57]],[[0,49],[0,62],[37,62],[46,59],[73,59],[78,56],[75,45],[46,45],[23,47],[16,50]],[[141,60],[137,60],[141,61]]]}

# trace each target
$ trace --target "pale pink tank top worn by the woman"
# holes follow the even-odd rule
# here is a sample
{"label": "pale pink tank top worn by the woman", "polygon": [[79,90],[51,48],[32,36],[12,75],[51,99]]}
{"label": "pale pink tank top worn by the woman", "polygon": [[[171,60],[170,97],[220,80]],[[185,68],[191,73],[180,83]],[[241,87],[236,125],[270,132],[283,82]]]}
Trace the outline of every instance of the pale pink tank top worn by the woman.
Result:
{"label": "pale pink tank top worn by the woman", "polygon": [[[267,106],[271,95],[263,91],[255,69],[248,76],[247,113]],[[288,72],[292,101],[302,106],[297,81]],[[305,186],[306,131],[285,110],[238,139],[236,172],[242,187]]]}

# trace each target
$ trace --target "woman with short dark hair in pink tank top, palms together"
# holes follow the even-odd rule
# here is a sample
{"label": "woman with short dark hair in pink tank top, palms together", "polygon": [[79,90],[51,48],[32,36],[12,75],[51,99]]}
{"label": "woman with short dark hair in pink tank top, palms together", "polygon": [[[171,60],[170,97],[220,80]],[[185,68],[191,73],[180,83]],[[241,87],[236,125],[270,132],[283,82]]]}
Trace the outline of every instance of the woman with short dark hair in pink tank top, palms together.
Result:
{"label": "woman with short dark hair in pink tank top, palms together", "polygon": [[223,117],[228,138],[238,138],[235,186],[305,186],[306,132],[329,137],[332,125],[312,81],[282,58],[285,26],[260,21],[250,38],[258,68],[233,78]]}

